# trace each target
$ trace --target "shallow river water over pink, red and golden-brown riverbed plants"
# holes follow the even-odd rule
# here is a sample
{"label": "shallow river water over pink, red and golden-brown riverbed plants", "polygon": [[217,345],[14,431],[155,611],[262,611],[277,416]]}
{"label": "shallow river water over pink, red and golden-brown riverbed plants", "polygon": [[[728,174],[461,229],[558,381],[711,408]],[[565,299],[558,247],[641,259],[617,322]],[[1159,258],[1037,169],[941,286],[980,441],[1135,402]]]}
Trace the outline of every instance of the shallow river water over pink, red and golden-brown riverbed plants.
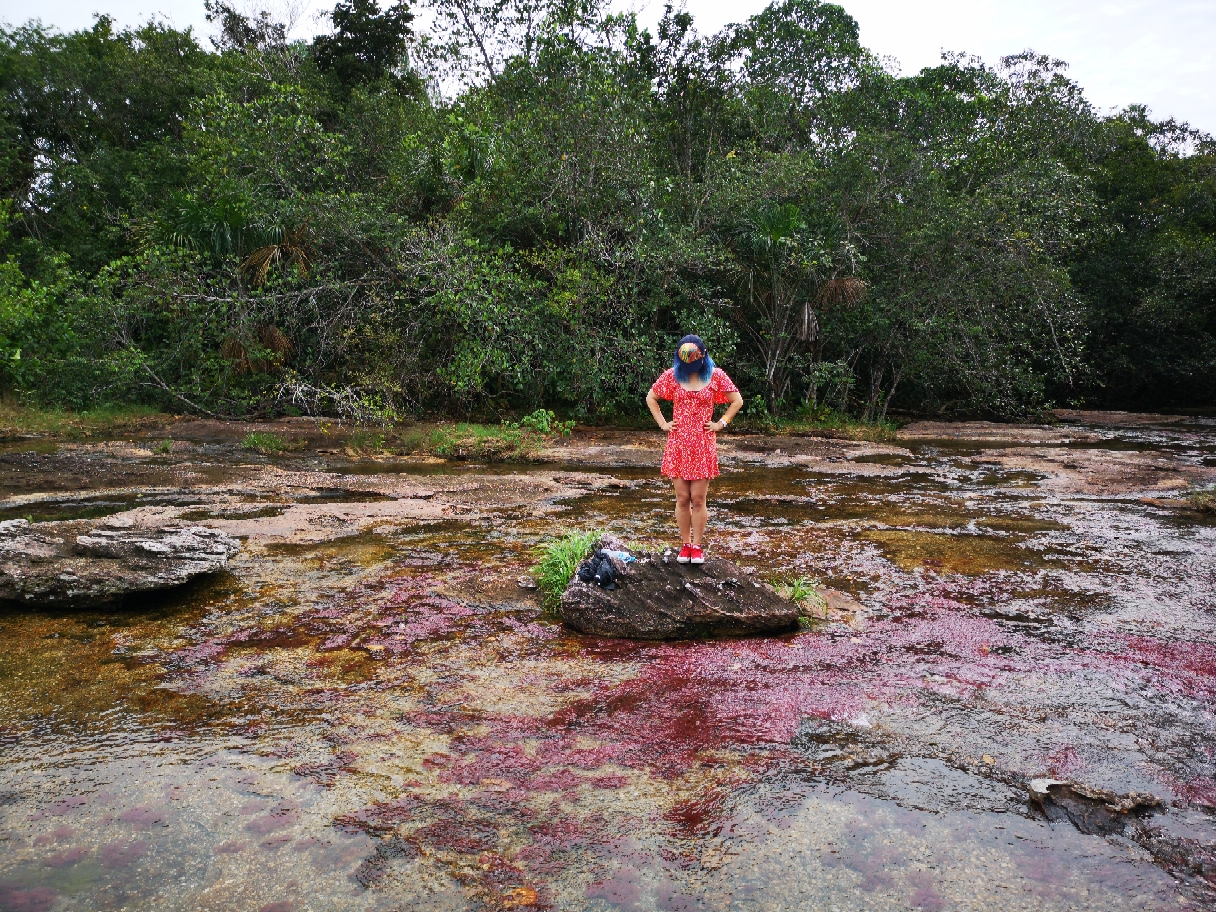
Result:
{"label": "shallow river water over pink, red and golden-brown riverbed plants", "polygon": [[[966,455],[715,483],[714,550],[851,593],[851,626],[631,643],[544,619],[502,584],[545,536],[670,539],[666,486],[626,469],[551,514],[0,614],[0,910],[1211,907],[1216,525]],[[1087,834],[1034,777],[1165,807]]]}

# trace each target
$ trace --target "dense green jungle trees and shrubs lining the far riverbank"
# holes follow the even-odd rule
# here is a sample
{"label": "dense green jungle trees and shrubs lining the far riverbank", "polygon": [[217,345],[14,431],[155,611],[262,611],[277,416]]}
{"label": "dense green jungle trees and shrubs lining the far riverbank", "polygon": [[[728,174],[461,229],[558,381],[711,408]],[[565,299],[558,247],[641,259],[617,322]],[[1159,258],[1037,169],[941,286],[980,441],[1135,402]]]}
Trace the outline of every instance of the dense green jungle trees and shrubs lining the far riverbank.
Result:
{"label": "dense green jungle trees and shrubs lining the far riverbank", "polygon": [[0,30],[10,401],[606,421],[697,332],[753,415],[1216,402],[1216,145],[1060,61],[901,77],[818,0],[207,10]]}

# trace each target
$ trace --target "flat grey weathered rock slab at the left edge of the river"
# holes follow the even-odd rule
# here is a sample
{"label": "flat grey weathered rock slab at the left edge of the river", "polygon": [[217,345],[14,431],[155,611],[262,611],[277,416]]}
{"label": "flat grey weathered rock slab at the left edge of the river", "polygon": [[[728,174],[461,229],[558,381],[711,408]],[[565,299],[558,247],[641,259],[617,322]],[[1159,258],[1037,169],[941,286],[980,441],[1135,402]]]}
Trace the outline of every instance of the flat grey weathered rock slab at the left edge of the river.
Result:
{"label": "flat grey weathered rock slab at the left edge of the river", "polygon": [[135,528],[102,520],[0,522],[0,599],[39,606],[91,606],[180,586],[227,565],[241,548],[199,525]]}

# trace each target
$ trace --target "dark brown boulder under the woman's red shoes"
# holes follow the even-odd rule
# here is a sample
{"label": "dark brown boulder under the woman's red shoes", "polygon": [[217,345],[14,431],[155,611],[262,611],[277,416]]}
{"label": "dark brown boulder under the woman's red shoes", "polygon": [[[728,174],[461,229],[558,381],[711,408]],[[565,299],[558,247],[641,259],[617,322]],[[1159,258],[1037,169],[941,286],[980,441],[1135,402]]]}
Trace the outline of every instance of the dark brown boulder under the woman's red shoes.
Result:
{"label": "dark brown boulder under the woman's red shoes", "polygon": [[[609,545],[610,547],[610,545]],[[558,613],[582,634],[635,640],[779,634],[798,627],[799,609],[737,564],[710,557],[699,565],[675,554],[641,552],[609,591],[570,580]]]}

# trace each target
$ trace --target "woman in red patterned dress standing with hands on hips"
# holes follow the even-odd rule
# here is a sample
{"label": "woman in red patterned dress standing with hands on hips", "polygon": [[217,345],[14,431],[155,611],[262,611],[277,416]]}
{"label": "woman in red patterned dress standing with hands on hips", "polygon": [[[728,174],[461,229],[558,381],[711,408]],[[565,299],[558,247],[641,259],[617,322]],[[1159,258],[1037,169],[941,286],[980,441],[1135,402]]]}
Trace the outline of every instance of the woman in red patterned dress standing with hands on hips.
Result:
{"label": "woman in red patterned dress standing with hands on hips", "polygon": [[[659,409],[660,399],[672,401],[671,421],[665,421]],[[714,406],[730,402],[726,413],[714,421]],[[682,564],[705,563],[702,544],[705,536],[705,496],[709,479],[716,478],[717,439],[714,434],[726,428],[743,407],[743,396],[721,367],[715,367],[705,343],[699,336],[685,336],[676,347],[671,368],[663,372],[646,405],[659,427],[668,432],[663,451],[663,474],[676,489],[676,524],[683,547],[676,557]]]}

